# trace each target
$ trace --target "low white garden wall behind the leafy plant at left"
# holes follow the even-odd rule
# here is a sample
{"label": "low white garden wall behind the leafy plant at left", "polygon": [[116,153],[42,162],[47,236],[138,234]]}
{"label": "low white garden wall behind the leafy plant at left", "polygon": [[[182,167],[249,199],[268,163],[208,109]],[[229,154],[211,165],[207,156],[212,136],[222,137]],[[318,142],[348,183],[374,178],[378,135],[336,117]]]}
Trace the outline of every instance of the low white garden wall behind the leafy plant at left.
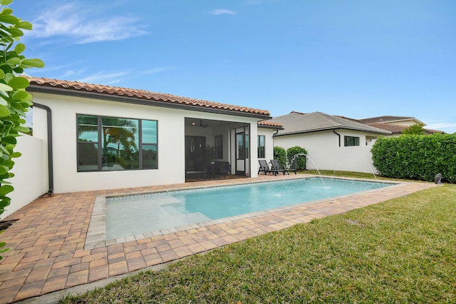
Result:
{"label": "low white garden wall behind the leafy plant at left", "polygon": [[9,193],[11,204],[1,214],[6,218],[14,211],[26,206],[31,201],[48,191],[47,161],[43,162],[43,141],[39,138],[24,135],[17,138],[15,151],[21,152],[22,156],[14,158],[14,167],[11,172],[13,178],[8,181],[14,186],[14,191]]}

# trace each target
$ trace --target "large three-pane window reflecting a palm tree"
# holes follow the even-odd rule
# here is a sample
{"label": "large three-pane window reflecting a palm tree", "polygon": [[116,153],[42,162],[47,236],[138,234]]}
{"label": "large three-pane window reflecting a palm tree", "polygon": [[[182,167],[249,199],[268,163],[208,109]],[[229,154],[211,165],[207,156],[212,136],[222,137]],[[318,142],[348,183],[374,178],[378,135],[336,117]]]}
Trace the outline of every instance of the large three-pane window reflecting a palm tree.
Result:
{"label": "large three-pane window reflecting a palm tree", "polygon": [[156,169],[157,121],[77,115],[78,171]]}

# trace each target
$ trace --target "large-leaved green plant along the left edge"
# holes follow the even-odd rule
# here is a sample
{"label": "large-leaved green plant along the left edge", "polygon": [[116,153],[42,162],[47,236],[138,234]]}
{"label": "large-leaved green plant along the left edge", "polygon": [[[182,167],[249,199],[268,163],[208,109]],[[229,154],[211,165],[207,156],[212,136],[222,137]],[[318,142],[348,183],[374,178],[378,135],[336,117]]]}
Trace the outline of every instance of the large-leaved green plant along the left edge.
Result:
{"label": "large-leaved green plant along the left edge", "polygon": [[[26,59],[22,55],[26,46],[19,39],[24,36],[24,30],[32,29],[32,24],[12,15],[13,10],[7,7],[12,2],[0,0],[0,215],[11,202],[9,193],[14,191],[6,179],[14,176],[10,172],[13,158],[21,156],[14,151],[16,137],[29,131],[24,124],[26,112],[32,106],[31,94],[26,92],[28,79],[21,74],[24,69],[44,66],[40,59]],[[5,245],[0,241],[0,254],[9,249]]]}

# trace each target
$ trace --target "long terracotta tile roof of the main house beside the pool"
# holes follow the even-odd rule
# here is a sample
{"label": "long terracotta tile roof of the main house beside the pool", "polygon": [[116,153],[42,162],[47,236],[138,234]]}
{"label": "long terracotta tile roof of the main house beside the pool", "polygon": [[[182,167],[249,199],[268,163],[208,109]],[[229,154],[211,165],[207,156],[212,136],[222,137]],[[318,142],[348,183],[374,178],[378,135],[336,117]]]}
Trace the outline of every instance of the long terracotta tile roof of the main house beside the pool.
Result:
{"label": "long terracotta tile roof of the main house beside the pool", "polygon": [[123,96],[125,98],[139,98],[149,101],[162,101],[163,103],[175,103],[185,106],[195,106],[200,108],[212,108],[222,111],[233,111],[240,113],[249,113],[257,116],[270,116],[269,111],[257,108],[247,108],[244,106],[234,106],[227,103],[216,103],[213,101],[203,101],[195,98],[175,96],[167,93],[155,93],[135,88],[122,88],[118,86],[105,86],[101,84],[83,83],[79,81],[63,81],[50,78],[29,77],[29,88],[60,88],[68,91],[83,91],[91,93],[100,93],[107,96]]}

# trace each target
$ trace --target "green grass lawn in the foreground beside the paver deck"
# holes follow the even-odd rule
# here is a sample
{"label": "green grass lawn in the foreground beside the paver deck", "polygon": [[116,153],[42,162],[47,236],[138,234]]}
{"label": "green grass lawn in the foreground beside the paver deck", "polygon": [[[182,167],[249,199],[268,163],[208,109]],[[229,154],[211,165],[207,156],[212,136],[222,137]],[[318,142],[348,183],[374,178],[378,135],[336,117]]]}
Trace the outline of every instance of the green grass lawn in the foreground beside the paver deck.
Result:
{"label": "green grass lawn in the foreground beside the paver deck", "polygon": [[194,255],[61,303],[455,303],[455,274],[456,185],[445,184]]}

